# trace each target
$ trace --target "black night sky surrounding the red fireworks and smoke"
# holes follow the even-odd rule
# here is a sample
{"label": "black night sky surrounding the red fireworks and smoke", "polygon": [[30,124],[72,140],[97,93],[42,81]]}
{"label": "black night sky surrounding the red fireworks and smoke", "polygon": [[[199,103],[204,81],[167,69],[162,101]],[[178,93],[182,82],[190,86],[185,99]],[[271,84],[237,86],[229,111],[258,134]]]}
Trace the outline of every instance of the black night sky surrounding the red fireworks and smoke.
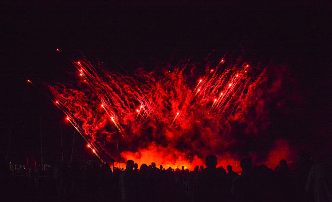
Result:
{"label": "black night sky surrounding the red fireworks and smoke", "polygon": [[[331,4],[309,2],[45,2],[0,3],[0,151],[24,159],[40,156],[40,118],[45,161],[69,159],[73,128],[44,94],[26,80],[66,81],[69,59],[84,54],[108,68],[130,70],[151,59],[203,60],[250,50],[257,61],[286,64],[308,105],[294,127],[306,134],[307,149],[325,153],[331,135]],[[56,52],[60,49],[60,53]],[[302,116],[303,113],[301,113]],[[304,125],[310,125],[302,128]],[[74,155],[92,157],[76,136]],[[303,136],[301,137],[303,138]],[[304,142],[305,142],[304,141]],[[317,150],[321,148],[321,150]]]}

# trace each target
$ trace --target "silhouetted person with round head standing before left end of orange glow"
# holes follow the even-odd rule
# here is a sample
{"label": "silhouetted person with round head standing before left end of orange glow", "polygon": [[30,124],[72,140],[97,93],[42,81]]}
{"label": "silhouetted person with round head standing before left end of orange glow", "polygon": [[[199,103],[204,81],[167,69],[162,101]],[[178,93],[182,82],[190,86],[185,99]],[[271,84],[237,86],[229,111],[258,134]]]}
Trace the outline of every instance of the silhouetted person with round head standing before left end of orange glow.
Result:
{"label": "silhouetted person with round head standing before left end of orange glow", "polygon": [[133,168],[134,161],[128,160],[126,170],[120,175],[119,186],[123,202],[138,200],[138,175]]}

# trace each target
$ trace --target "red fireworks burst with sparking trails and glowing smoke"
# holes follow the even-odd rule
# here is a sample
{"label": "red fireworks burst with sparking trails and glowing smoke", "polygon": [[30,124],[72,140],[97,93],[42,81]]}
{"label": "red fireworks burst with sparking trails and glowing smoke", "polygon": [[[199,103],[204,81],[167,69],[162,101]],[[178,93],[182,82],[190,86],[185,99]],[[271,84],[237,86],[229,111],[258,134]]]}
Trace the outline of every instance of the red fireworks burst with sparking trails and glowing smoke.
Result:
{"label": "red fireworks burst with sparking trails and glowing smoke", "polygon": [[267,71],[231,63],[222,59],[205,75],[186,75],[188,66],[180,66],[130,76],[81,60],[73,65],[88,84],[46,86],[101,160],[193,169],[208,154],[235,150],[239,125],[243,134],[258,133],[269,122],[261,112],[277,91],[269,89]]}

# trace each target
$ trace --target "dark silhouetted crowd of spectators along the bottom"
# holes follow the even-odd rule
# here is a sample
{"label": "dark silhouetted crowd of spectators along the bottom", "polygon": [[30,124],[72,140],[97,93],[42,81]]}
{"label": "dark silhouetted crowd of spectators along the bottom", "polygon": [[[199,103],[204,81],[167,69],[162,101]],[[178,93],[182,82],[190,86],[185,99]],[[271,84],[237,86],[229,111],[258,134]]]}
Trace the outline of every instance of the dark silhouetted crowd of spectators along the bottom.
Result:
{"label": "dark silhouetted crowd of spectators along the bottom", "polygon": [[3,201],[332,201],[332,161],[312,165],[305,152],[297,155],[297,169],[281,160],[272,170],[253,165],[251,158],[240,161],[241,173],[217,167],[209,155],[204,166],[188,169],[159,168],[155,163],[138,168],[132,160],[126,169],[90,162],[59,163],[41,171],[28,168],[11,173],[1,165]]}

